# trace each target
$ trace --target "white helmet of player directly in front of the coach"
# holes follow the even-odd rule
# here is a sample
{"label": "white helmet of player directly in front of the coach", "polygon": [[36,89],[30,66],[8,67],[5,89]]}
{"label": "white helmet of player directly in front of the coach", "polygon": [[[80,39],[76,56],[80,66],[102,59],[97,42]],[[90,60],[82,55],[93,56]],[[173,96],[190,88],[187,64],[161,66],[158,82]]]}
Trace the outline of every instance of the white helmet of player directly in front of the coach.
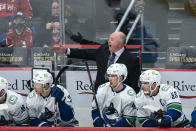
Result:
{"label": "white helmet of player directly in front of the coach", "polygon": [[115,63],[108,67],[107,75],[117,75],[118,79],[120,76],[124,76],[123,82],[127,78],[127,67],[124,64]]}

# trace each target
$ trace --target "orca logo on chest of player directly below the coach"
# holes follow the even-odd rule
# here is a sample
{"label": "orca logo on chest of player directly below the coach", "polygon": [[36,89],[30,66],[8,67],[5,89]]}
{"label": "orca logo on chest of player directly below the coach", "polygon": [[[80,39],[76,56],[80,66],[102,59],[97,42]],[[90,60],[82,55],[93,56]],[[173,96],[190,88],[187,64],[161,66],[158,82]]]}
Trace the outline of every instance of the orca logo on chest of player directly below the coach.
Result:
{"label": "orca logo on chest of player directly below the coach", "polygon": [[119,113],[118,111],[114,108],[114,104],[110,103],[110,106],[107,107],[105,106],[102,110],[102,114],[103,114],[103,118],[105,120],[106,123],[113,125],[117,122],[116,119],[114,118],[118,118],[119,117]]}

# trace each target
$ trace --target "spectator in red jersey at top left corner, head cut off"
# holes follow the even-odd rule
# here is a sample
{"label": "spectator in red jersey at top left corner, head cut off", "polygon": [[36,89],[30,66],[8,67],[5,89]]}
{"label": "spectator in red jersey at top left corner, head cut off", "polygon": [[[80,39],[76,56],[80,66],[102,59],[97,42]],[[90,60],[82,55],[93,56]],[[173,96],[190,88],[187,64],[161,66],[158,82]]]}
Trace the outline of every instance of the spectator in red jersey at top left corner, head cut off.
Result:
{"label": "spectator in red jersey at top left corner, head cut off", "polygon": [[24,13],[29,24],[33,14],[29,0],[1,0],[0,7],[0,23],[4,25],[0,26],[0,43],[1,46],[4,46],[6,43],[6,33],[17,12]]}

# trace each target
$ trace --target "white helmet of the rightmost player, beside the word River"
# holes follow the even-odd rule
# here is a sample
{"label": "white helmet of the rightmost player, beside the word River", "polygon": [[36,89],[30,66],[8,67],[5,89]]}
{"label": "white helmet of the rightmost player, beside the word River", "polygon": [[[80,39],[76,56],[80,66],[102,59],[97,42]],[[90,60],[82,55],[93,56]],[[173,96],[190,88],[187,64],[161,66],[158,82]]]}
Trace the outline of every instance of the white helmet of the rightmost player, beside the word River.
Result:
{"label": "white helmet of the rightmost player, beside the word River", "polygon": [[158,87],[161,83],[161,75],[156,70],[146,70],[140,75],[140,82],[149,82],[150,87],[156,83]]}

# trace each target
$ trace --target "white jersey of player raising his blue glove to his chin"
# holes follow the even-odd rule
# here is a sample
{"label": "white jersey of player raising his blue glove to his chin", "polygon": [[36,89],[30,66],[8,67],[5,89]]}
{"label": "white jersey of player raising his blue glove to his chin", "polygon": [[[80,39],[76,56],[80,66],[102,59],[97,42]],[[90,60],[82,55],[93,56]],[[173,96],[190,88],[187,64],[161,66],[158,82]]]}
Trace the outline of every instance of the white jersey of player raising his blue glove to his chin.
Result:
{"label": "white jersey of player raising his blue glove to his chin", "polygon": [[[62,99],[65,99],[66,104],[71,106],[72,100],[68,91],[60,85],[58,85],[58,87],[64,92],[64,96]],[[28,109],[30,119],[39,118],[42,114],[45,113],[47,109],[52,113],[52,116],[47,119],[47,122],[50,124],[50,126],[54,125],[55,97],[51,97],[50,95],[44,98],[43,96],[36,94],[35,90],[33,90],[28,95],[26,103],[27,103],[27,109]],[[57,126],[67,126],[67,125],[74,126],[73,121],[75,119],[72,119],[70,121],[63,121],[60,118],[58,102],[56,107],[57,107],[57,112],[56,112]]]}

